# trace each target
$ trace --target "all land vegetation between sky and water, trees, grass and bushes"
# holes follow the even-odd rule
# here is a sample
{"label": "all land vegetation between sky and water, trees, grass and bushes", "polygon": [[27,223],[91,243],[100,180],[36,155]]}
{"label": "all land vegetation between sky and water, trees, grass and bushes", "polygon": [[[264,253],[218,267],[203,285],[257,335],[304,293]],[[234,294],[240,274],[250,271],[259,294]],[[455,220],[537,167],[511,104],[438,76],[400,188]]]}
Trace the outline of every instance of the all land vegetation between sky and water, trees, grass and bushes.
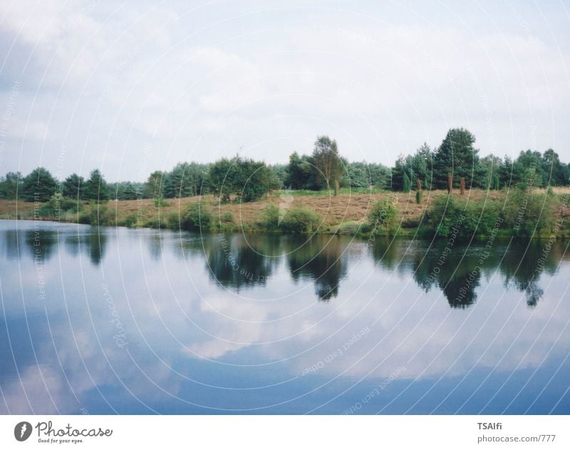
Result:
{"label": "all land vegetation between sky and water, trees, grass and bushes", "polygon": [[[240,155],[210,164],[182,162],[152,172],[144,183],[107,183],[98,169],[88,179],[73,173],[63,181],[41,167],[25,177],[6,173],[0,200],[7,210],[0,215],[182,230],[390,234],[399,224],[399,233],[442,238],[545,236],[551,230],[566,235],[567,225],[556,225],[556,215],[567,213],[559,187],[569,183],[570,166],[554,150],[525,150],[514,160],[481,158],[475,136],[463,128],[448,131],[437,148],[424,143],[413,155],[400,155],[392,168],[348,162],[336,140],[323,135],[310,154],[294,152],[288,164]],[[284,198],[290,200],[286,208]],[[109,200],[116,200],[114,208]]]}

